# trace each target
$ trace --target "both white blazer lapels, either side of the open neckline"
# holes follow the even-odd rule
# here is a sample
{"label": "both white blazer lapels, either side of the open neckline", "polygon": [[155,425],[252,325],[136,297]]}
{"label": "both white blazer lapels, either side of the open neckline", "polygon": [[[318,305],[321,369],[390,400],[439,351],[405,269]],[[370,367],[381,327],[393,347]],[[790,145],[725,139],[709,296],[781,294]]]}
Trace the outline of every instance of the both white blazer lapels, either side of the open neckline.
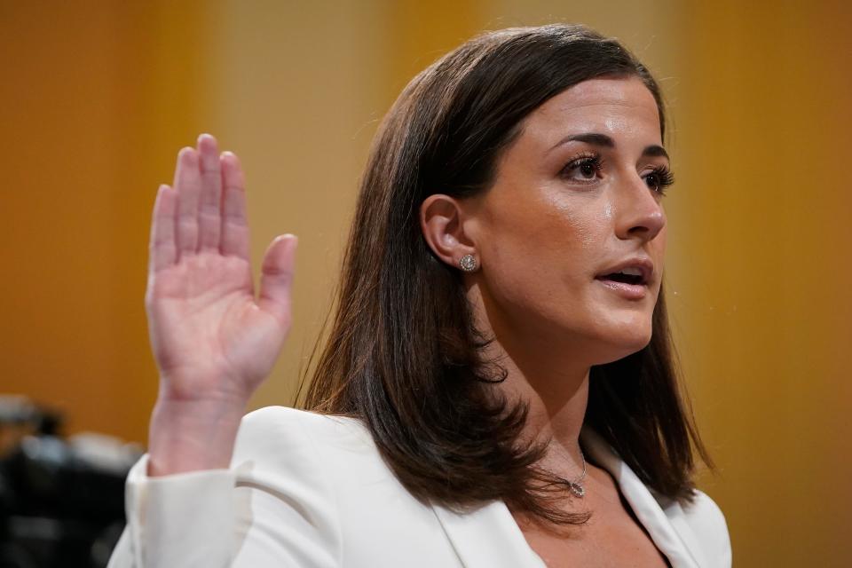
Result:
{"label": "both white blazer lapels, either side of the open neckline", "polygon": [[[667,503],[664,511],[634,471],[590,428],[583,428],[580,440],[587,454],[619,484],[636,518],[673,568],[703,565],[687,548],[687,543],[694,548],[696,542],[676,501]],[[546,568],[503,501],[493,501],[464,514],[439,505],[433,505],[432,510],[465,568]]]}

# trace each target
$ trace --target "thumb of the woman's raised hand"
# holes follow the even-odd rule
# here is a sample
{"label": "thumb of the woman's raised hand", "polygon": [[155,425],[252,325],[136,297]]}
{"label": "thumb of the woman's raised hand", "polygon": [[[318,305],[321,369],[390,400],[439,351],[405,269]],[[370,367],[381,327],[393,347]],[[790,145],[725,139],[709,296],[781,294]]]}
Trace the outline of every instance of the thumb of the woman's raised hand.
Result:
{"label": "thumb of the woman's raised hand", "polygon": [[298,239],[284,234],[272,241],[264,254],[257,305],[272,314],[282,327],[290,325],[290,288],[293,286]]}

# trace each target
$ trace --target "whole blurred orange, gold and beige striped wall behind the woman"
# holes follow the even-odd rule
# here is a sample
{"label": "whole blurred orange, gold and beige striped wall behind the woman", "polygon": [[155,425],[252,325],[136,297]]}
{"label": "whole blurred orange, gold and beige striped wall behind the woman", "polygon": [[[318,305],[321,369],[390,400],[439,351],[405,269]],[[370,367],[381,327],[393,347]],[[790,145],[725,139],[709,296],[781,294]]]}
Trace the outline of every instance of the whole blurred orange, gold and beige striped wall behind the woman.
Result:
{"label": "whole blurred orange, gold and beige striped wall behind the woman", "polygon": [[256,267],[300,236],[290,404],[367,146],[405,83],[485,29],[588,24],[660,80],[667,288],[735,565],[852,565],[852,7],[501,0],[0,4],[0,393],[146,441],[156,187],[199,132],[241,155]]}

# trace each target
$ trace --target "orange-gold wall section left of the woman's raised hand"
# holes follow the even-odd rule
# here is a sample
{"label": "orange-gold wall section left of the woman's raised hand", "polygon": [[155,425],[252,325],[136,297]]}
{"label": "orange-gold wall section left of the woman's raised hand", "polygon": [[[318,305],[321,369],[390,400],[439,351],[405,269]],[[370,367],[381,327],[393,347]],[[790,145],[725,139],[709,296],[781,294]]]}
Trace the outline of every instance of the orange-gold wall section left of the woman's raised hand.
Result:
{"label": "orange-gold wall section left of the woman's raised hand", "polygon": [[197,4],[0,8],[0,393],[144,440],[156,184],[198,130]]}

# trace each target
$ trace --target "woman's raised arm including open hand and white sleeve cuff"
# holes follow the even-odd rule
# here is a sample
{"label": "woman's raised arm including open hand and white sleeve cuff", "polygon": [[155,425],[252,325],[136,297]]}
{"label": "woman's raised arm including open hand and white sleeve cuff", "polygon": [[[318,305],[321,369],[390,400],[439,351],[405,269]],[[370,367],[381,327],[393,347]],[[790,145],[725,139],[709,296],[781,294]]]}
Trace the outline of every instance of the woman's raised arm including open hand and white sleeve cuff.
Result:
{"label": "woman's raised arm including open hand and white sleeve cuff", "polygon": [[146,312],[160,390],[111,566],[231,563],[240,515],[228,467],[248,398],[288,334],[296,249],[292,235],[272,241],[256,298],[245,209],[240,162],[209,135],[180,151],[174,187],[157,193]]}

